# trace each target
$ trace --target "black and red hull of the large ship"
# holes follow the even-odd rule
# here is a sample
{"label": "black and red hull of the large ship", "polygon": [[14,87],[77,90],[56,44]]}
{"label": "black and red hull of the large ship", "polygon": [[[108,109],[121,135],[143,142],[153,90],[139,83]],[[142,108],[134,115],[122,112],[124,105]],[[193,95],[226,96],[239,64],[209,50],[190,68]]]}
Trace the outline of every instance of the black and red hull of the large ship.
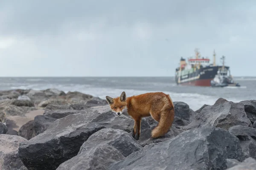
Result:
{"label": "black and red hull of the large ship", "polygon": [[214,79],[219,68],[221,66],[207,66],[195,71],[191,69],[180,73],[176,71],[175,81],[177,85],[211,86],[211,80]]}

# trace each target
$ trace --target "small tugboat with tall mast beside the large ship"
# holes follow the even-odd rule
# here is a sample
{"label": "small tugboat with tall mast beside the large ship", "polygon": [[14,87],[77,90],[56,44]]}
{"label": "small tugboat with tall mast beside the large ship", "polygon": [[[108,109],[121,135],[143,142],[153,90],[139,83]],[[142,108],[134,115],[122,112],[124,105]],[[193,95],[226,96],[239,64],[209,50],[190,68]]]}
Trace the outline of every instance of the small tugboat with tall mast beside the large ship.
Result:
{"label": "small tugboat with tall mast beside the large ship", "polygon": [[222,56],[222,67],[219,68],[214,79],[211,80],[212,87],[227,87],[236,86],[240,87],[239,83],[235,83],[230,70],[225,68],[225,56]]}

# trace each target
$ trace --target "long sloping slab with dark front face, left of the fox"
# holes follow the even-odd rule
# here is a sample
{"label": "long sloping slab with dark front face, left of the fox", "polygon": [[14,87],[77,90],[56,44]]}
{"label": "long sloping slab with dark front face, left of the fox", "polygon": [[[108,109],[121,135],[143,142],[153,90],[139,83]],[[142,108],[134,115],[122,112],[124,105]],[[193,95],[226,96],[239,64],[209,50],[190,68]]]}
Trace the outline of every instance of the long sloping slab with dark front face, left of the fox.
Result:
{"label": "long sloping slab with dark front face, left of the fox", "polygon": [[131,132],[133,126],[133,119],[116,116],[108,105],[96,106],[55,120],[43,133],[21,144],[19,156],[29,169],[55,170],[59,164],[76,156],[93,133],[102,128]]}

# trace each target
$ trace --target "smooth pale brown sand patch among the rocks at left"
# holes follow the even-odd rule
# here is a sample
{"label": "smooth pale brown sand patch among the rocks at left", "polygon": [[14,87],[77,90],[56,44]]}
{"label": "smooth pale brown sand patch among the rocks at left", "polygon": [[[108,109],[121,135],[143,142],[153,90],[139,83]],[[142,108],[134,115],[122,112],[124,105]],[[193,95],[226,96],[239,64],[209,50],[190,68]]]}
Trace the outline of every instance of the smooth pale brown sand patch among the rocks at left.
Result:
{"label": "smooth pale brown sand patch among the rocks at left", "polygon": [[6,126],[8,129],[13,129],[19,131],[20,127],[30,120],[34,120],[35,116],[43,115],[44,110],[38,109],[35,111],[30,111],[23,116],[7,116],[6,117]]}

